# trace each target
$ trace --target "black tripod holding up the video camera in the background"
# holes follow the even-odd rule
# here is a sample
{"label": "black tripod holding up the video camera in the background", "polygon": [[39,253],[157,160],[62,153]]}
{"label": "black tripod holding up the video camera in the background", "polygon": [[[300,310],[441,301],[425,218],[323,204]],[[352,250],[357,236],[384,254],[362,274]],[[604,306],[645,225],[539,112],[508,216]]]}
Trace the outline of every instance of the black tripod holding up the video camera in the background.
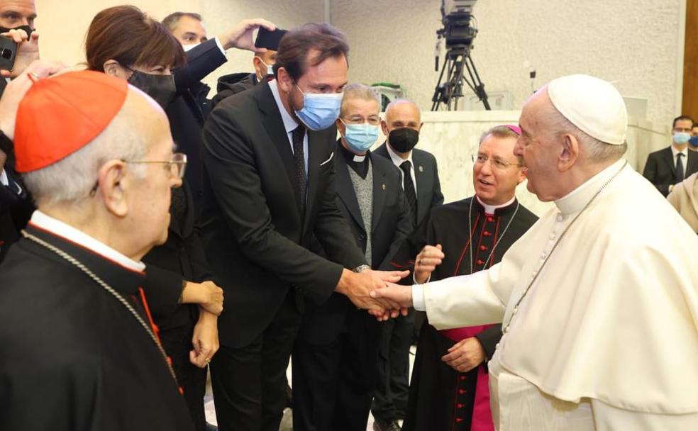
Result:
{"label": "black tripod holding up the video camera in the background", "polygon": [[[445,81],[443,74],[448,71]],[[467,76],[465,75],[467,71]],[[445,104],[448,111],[458,110],[458,99],[463,95],[463,83],[470,87],[473,93],[482,101],[484,108],[489,111],[489,101],[487,101],[487,93],[484,91],[484,84],[480,81],[480,75],[477,74],[475,63],[470,57],[470,49],[466,45],[455,45],[450,47],[446,52],[446,61],[443,62],[441,74],[434,89],[434,95],[431,98],[433,102],[431,111],[438,111],[441,103]]]}

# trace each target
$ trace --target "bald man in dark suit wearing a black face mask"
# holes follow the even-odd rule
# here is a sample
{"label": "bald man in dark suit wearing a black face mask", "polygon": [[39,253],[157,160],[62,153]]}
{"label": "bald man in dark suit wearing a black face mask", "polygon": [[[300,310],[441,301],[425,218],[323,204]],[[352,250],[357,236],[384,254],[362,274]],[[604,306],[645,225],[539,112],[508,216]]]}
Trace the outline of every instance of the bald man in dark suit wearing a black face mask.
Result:
{"label": "bald man in dark suit wearing a black face mask", "polygon": [[[375,154],[390,159],[399,167],[402,186],[410,205],[414,225],[426,218],[431,208],[443,203],[436,158],[414,148],[419,141],[421,116],[411,101],[399,99],[390,103],[381,123],[388,138]],[[419,250],[414,250],[413,255]],[[372,413],[374,430],[399,430],[398,420],[405,417],[409,393],[409,346],[415,339],[423,314],[410,310],[409,315],[385,323],[378,354],[378,379]],[[416,321],[419,320],[419,321]]]}

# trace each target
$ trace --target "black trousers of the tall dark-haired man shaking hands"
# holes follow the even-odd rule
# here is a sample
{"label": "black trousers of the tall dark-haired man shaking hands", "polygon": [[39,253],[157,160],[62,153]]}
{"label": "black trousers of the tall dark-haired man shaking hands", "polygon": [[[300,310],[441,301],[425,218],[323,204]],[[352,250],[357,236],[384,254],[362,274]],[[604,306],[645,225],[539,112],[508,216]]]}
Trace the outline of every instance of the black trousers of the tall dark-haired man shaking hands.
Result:
{"label": "black trousers of the tall dark-haired man shaking hands", "polygon": [[222,345],[211,361],[221,431],[278,431],[286,403],[286,369],[301,323],[290,290],[272,322],[249,345]]}

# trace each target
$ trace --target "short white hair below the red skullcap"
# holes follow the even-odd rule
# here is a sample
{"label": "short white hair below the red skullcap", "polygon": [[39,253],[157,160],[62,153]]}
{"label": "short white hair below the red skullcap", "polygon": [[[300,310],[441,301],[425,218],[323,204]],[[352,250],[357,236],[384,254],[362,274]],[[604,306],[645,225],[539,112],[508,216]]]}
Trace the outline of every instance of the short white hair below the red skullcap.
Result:
{"label": "short white hair below the red skullcap", "polygon": [[[124,111],[127,111],[126,114]],[[109,160],[143,160],[147,142],[140,135],[133,113],[121,108],[102,132],[59,162],[23,174],[27,189],[37,204],[77,202],[88,198],[99,179],[99,168]],[[56,139],[60,139],[56,137]],[[143,164],[129,164],[136,177],[147,173]]]}

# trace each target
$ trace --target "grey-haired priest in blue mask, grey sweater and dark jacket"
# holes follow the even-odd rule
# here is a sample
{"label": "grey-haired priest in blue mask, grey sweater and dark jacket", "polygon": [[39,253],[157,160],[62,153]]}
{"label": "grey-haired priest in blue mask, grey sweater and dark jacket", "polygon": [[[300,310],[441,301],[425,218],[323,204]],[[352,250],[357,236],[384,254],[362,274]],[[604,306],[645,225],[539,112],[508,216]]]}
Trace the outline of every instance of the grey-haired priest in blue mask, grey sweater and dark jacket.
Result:
{"label": "grey-haired priest in blue mask, grey sweater and dark jacket", "polygon": [[[389,269],[413,229],[400,173],[368,149],[378,138],[380,99],[370,87],[344,90],[333,158],[337,205],[371,266]],[[333,293],[306,305],[293,351],[294,430],[365,430],[375,389],[381,324]]]}

